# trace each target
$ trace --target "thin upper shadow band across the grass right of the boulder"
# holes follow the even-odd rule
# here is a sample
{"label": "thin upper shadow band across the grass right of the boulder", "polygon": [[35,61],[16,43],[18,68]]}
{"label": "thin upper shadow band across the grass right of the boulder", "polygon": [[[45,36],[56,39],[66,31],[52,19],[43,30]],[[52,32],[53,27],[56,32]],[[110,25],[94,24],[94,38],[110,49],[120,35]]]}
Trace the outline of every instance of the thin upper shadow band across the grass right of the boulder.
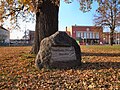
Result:
{"label": "thin upper shadow band across the grass right of the boulder", "polygon": [[82,52],[82,56],[120,57],[120,53],[88,53],[88,52]]}

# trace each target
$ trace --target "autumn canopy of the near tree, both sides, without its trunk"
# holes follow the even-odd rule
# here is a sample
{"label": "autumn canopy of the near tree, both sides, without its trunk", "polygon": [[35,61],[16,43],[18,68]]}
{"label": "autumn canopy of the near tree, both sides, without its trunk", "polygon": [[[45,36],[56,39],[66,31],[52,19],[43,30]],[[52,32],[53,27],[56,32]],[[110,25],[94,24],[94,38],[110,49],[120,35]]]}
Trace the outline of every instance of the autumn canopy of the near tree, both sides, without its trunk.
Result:
{"label": "autumn canopy of the near tree, both sides, without its trunk", "polygon": [[[4,19],[10,18],[10,20],[17,21],[18,17],[28,17],[28,15],[34,15],[39,11],[40,5],[45,0],[1,0],[0,1],[0,21],[4,22]],[[60,0],[49,0],[55,5],[60,5]],[[74,0],[63,0],[66,3],[72,3]],[[80,3],[80,10],[86,12],[91,9],[93,1],[100,0],[78,0]]]}

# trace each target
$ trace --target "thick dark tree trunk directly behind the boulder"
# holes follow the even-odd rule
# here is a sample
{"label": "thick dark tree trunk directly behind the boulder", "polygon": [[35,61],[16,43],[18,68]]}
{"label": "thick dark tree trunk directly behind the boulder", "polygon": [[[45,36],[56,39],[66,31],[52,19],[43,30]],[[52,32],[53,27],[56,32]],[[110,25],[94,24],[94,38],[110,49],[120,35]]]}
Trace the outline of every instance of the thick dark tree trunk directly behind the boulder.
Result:
{"label": "thick dark tree trunk directly behind the boulder", "polygon": [[38,6],[39,11],[36,13],[35,39],[31,53],[37,54],[40,49],[40,42],[43,38],[48,37],[58,31],[58,12],[59,4],[52,3],[51,0],[44,0]]}

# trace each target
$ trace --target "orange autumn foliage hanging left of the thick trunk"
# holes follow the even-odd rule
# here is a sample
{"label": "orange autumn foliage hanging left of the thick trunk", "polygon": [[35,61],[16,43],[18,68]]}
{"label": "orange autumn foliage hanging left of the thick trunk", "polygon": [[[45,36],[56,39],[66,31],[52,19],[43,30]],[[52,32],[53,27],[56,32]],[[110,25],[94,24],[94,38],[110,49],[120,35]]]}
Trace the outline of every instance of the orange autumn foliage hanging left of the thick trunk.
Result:
{"label": "orange autumn foliage hanging left of the thick trunk", "polygon": [[23,20],[34,15],[35,8],[32,1],[35,0],[1,0],[0,1],[0,21],[10,19],[11,23],[16,23],[18,18]]}

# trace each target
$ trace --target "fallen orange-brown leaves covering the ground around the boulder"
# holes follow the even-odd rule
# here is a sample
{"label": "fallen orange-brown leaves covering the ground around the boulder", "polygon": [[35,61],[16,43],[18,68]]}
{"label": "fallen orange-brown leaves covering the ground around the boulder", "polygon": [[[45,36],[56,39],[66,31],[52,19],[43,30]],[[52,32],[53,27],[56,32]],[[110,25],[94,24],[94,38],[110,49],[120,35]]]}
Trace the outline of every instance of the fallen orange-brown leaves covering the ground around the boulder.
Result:
{"label": "fallen orange-brown leaves covering the ground around the boulder", "polygon": [[42,69],[31,47],[0,47],[0,90],[120,90],[120,46],[81,46],[82,66]]}

